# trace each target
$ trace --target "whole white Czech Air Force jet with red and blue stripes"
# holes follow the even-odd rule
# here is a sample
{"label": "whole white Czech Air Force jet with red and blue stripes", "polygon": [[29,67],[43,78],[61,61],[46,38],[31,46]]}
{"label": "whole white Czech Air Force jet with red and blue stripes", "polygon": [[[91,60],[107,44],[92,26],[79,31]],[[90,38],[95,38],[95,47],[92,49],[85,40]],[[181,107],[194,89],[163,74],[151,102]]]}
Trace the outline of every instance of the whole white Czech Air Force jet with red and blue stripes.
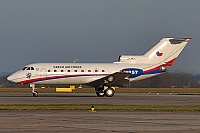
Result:
{"label": "whole white Czech Air Force jet with red and blue stripes", "polygon": [[11,74],[7,79],[17,84],[30,84],[34,97],[35,84],[88,85],[98,97],[112,97],[116,87],[150,78],[167,71],[192,38],[163,38],[141,56],[121,55],[113,63],[34,63]]}

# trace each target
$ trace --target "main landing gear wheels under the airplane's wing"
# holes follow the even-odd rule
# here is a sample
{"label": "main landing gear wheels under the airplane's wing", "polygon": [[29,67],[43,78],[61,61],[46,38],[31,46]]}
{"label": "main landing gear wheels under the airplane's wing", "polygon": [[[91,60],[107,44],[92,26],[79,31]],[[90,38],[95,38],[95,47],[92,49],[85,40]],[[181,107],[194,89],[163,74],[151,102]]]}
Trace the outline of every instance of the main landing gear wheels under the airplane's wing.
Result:
{"label": "main landing gear wheels under the airplane's wing", "polygon": [[114,87],[107,87],[107,86],[96,87],[95,91],[98,97],[104,97],[104,96],[113,97],[115,94]]}

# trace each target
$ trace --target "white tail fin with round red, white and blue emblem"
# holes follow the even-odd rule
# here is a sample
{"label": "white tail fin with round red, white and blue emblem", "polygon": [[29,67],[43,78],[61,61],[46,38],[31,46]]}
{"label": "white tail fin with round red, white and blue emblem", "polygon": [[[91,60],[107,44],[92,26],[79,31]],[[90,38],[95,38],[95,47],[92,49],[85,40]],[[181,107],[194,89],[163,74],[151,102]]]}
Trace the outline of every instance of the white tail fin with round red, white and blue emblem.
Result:
{"label": "white tail fin with round red, white and blue emblem", "polygon": [[147,57],[146,63],[171,66],[190,39],[163,38],[144,54]]}

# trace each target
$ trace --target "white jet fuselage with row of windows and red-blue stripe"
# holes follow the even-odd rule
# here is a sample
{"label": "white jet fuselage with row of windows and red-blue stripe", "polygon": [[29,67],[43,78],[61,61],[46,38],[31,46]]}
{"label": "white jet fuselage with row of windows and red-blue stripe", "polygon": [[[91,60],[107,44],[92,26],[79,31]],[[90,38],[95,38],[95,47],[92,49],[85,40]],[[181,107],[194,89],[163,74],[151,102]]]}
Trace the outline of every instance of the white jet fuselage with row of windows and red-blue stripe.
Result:
{"label": "white jet fuselage with row of windows and red-blue stripe", "polygon": [[[144,73],[147,72],[130,78],[130,81],[133,81],[160,74],[160,72],[153,72],[156,67],[126,63],[35,63],[25,66],[24,70],[15,72],[9,80],[18,84],[87,84],[126,68],[139,68]],[[151,73],[148,74],[148,71]]]}

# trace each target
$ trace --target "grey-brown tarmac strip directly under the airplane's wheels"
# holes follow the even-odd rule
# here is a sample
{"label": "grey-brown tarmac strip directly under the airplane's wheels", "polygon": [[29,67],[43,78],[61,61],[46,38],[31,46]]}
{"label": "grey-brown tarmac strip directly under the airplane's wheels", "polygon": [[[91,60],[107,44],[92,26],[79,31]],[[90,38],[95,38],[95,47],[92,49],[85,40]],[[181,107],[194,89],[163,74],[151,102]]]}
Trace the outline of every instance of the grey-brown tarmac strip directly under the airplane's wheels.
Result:
{"label": "grey-brown tarmac strip directly under the airplane's wheels", "polygon": [[0,104],[112,104],[112,105],[200,105],[200,95],[116,93],[97,97],[94,93],[0,93]]}

